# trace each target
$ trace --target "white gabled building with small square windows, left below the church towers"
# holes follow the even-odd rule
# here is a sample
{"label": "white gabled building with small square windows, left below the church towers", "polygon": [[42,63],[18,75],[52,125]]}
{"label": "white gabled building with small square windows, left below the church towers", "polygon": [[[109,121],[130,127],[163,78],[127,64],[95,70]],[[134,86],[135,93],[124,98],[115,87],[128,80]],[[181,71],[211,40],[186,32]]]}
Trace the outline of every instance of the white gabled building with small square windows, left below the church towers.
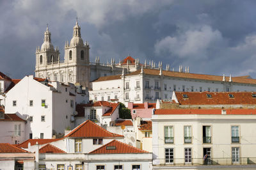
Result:
{"label": "white gabled building with small square windows, left below the church towers", "polygon": [[51,139],[74,128],[76,103],[88,102],[88,93],[74,84],[49,82],[47,79],[24,77],[6,93],[6,113],[15,113],[27,121],[26,139]]}

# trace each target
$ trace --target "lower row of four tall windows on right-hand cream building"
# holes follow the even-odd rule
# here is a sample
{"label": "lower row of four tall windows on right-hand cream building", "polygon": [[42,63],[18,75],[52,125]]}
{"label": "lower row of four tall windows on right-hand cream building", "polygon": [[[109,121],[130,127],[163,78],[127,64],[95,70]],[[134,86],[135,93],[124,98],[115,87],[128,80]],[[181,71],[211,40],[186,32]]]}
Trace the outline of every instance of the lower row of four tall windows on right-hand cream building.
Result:
{"label": "lower row of four tall windows on right-hand cream building", "polygon": [[[212,164],[211,148],[203,148],[204,152],[204,164]],[[175,163],[174,148],[164,148],[165,163]],[[232,163],[239,164],[240,148],[232,147]],[[178,162],[181,158],[177,158]],[[184,163],[192,163],[192,148],[184,148]],[[198,160],[198,158],[196,158]]]}

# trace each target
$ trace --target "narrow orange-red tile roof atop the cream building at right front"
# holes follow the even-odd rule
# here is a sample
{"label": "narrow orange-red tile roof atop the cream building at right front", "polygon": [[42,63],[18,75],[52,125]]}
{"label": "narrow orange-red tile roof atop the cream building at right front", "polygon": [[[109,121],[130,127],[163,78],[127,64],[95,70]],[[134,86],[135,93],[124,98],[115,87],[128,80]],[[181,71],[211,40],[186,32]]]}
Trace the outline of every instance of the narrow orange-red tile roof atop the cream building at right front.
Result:
{"label": "narrow orange-red tile roof atop the cream building at right front", "polygon": [[[256,109],[225,109],[225,111],[226,114],[256,114]],[[155,114],[221,114],[221,109],[156,109]]]}

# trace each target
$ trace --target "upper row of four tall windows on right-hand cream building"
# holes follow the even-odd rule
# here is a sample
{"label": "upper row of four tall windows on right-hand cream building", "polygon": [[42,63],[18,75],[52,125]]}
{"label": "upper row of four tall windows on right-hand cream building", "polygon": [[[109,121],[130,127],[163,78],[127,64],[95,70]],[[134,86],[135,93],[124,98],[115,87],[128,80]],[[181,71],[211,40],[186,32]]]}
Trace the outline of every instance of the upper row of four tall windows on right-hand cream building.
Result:
{"label": "upper row of four tall windows on right-hand cream building", "polygon": [[[203,143],[212,143],[211,126],[203,126]],[[164,143],[172,144],[174,141],[173,126],[164,127]],[[231,127],[231,142],[239,143],[239,126]],[[192,143],[192,128],[191,126],[184,126],[184,143]]]}

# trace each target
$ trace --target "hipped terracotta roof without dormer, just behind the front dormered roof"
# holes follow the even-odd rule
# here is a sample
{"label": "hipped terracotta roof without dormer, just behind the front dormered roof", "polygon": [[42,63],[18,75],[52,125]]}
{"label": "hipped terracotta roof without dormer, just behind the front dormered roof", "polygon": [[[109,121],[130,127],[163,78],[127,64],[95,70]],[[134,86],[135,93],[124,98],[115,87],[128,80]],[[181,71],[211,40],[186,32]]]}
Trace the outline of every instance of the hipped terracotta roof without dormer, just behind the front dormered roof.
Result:
{"label": "hipped terracotta roof without dormer, just behind the front dormered roof", "polygon": [[74,128],[69,134],[65,135],[65,137],[103,137],[103,138],[113,138],[113,137],[124,137],[124,135],[118,135],[109,132],[108,130],[100,127],[96,123],[93,123],[90,120],[84,121],[81,125]]}

